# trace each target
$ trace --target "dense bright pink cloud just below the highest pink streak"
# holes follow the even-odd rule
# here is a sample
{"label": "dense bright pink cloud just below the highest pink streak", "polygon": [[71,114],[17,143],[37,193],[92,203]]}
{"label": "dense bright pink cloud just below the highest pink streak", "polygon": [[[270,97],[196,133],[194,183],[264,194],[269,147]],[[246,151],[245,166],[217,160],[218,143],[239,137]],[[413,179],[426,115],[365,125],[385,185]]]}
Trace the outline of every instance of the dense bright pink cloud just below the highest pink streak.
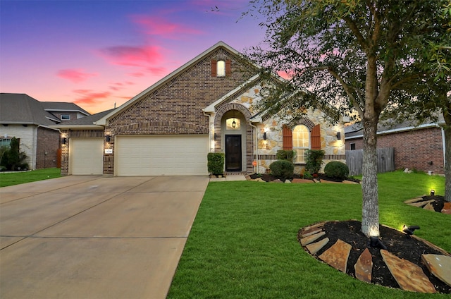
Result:
{"label": "dense bright pink cloud just below the highest pink streak", "polygon": [[101,49],[100,51],[107,61],[120,66],[143,66],[143,64],[154,64],[163,60],[159,47],[117,46]]}

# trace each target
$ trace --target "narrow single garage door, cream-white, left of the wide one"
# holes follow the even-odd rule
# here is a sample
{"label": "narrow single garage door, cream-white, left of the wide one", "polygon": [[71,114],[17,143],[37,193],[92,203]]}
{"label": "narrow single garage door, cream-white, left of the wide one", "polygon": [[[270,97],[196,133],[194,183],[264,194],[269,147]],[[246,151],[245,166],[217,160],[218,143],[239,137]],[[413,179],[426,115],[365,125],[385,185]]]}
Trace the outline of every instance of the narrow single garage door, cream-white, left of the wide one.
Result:
{"label": "narrow single garage door, cream-white, left of the wide one", "polygon": [[102,138],[70,138],[69,174],[104,173],[104,140]]}

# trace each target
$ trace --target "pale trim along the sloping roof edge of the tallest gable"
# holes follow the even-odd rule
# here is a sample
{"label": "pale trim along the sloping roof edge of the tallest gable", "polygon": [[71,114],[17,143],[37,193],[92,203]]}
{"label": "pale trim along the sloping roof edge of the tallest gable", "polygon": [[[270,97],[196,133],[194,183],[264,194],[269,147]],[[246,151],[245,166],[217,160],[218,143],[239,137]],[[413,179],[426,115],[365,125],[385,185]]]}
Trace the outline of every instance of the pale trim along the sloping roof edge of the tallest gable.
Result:
{"label": "pale trim along the sloping roof edge of the tallest gable", "polygon": [[240,55],[237,50],[233,49],[225,42],[218,42],[218,43],[214,44],[214,46],[210,47],[209,49],[206,49],[201,54],[194,57],[194,59],[191,59],[190,61],[185,63],[183,66],[180,66],[180,68],[176,69],[169,75],[166,75],[166,77],[162,78],[161,80],[156,82],[154,85],[150,86],[146,90],[143,90],[142,92],[140,92],[140,94],[137,94],[135,97],[132,97],[132,99],[128,100],[128,102],[125,102],[121,106],[118,106],[118,108],[114,109],[109,114],[107,114],[103,118],[99,119],[99,121],[97,121],[95,124],[100,125],[100,126],[105,126],[109,118],[112,118],[113,116],[116,116],[117,114],[121,113],[121,111],[127,109],[129,106],[131,106],[135,102],[142,99],[142,97],[144,97],[146,94],[149,94],[149,93],[153,92],[154,90],[157,90],[159,87],[161,87],[164,84],[168,83],[169,81],[173,80],[173,78],[178,76],[180,73],[183,73],[183,71],[185,71],[187,68],[190,68],[192,65],[194,65],[195,63],[197,63],[198,61],[203,59],[204,56],[207,56],[211,52],[216,51],[216,49],[221,48],[221,47],[223,47],[224,49],[226,49],[227,51],[230,51],[231,53],[233,53],[235,55]]}

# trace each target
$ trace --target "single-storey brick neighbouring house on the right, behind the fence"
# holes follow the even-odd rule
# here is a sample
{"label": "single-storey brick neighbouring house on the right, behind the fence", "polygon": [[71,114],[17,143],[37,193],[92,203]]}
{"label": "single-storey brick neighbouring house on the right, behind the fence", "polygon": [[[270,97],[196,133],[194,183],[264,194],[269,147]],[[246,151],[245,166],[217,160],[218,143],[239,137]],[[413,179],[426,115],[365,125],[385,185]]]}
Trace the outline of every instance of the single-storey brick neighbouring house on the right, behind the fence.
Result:
{"label": "single-storey brick neighbouring house on the right, behind the fence", "polygon": [[[395,149],[396,169],[416,169],[445,173],[445,132],[443,116],[438,123],[413,126],[404,122],[379,124],[377,147]],[[346,150],[363,149],[363,128],[360,123],[345,127]]]}

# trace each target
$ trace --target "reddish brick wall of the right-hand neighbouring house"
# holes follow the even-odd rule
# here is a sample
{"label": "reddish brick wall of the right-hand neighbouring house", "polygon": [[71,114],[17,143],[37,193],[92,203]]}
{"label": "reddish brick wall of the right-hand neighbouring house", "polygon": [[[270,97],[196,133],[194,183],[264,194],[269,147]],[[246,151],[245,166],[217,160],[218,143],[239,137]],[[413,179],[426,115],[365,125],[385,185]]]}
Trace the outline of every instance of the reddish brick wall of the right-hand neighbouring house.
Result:
{"label": "reddish brick wall of the right-hand neighbouring house", "polygon": [[[346,150],[350,149],[350,142],[355,142],[356,150],[362,150],[362,138],[346,140]],[[423,128],[378,135],[378,148],[384,147],[395,147],[396,169],[445,173],[441,128]]]}

